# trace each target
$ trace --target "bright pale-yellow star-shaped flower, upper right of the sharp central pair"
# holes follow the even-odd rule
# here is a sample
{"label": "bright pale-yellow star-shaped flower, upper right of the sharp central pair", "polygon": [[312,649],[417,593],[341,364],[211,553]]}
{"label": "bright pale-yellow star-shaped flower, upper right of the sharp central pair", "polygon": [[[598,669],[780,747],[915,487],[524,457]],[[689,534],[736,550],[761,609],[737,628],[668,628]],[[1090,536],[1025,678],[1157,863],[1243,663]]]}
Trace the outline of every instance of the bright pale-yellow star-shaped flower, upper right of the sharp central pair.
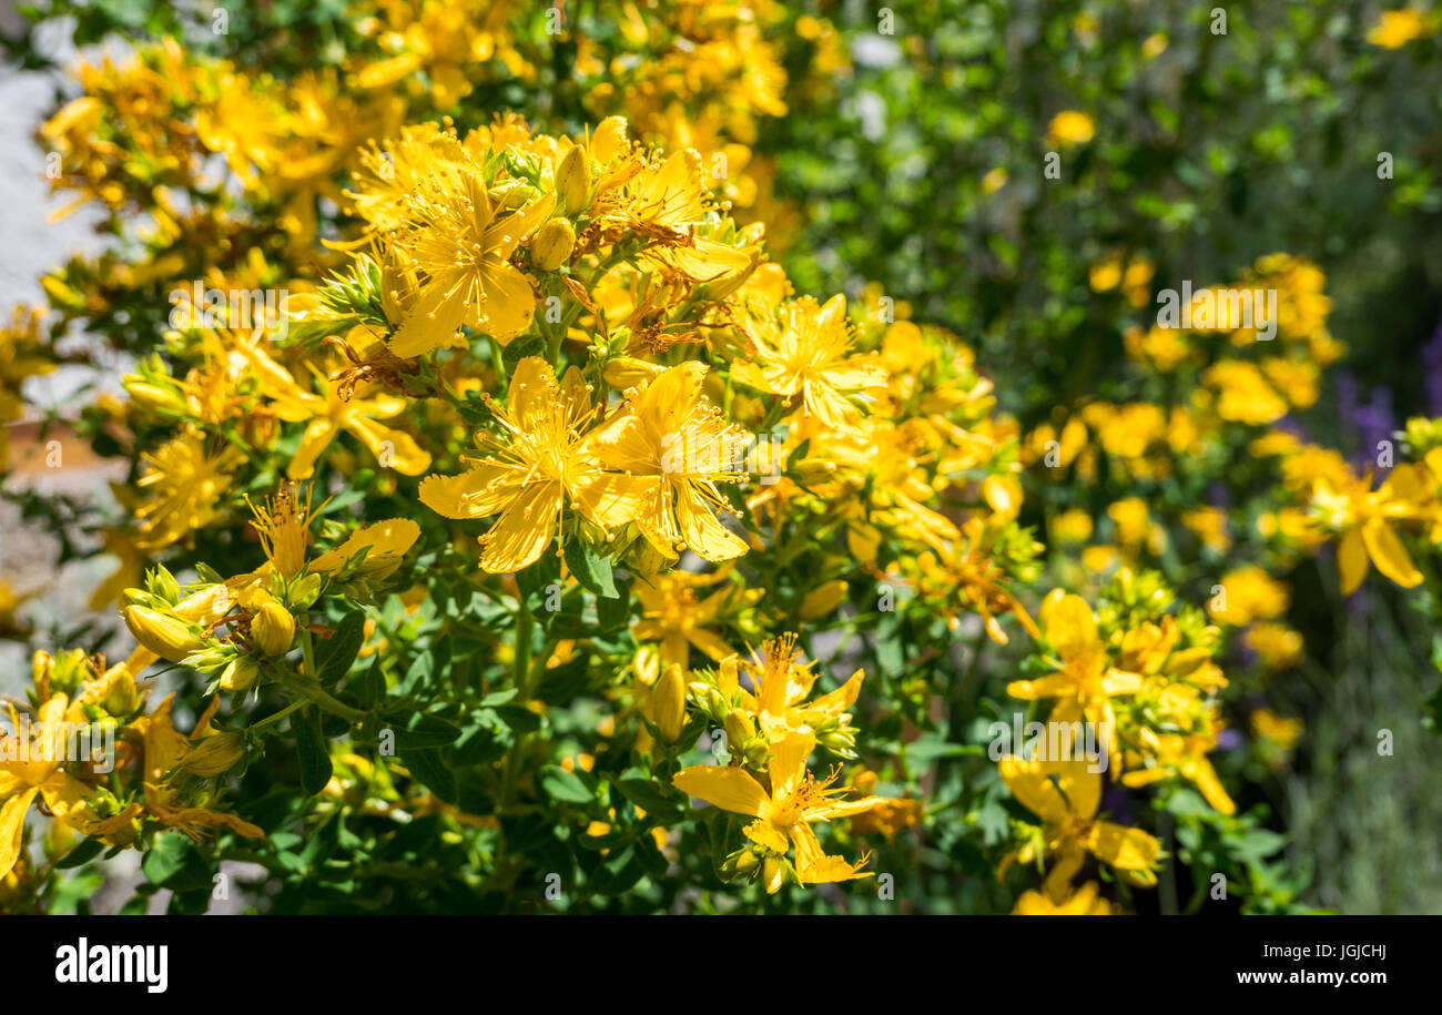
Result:
{"label": "bright pale-yellow star-shaped flower, upper right of the sharp central pair", "polygon": [[731,376],[783,398],[799,395],[803,414],[832,430],[845,425],[858,414],[846,394],[887,379],[868,358],[849,355],[846,297],[836,294],[825,304],[802,297],[782,310],[782,319],[779,327],[753,330],[758,362],[733,363]]}

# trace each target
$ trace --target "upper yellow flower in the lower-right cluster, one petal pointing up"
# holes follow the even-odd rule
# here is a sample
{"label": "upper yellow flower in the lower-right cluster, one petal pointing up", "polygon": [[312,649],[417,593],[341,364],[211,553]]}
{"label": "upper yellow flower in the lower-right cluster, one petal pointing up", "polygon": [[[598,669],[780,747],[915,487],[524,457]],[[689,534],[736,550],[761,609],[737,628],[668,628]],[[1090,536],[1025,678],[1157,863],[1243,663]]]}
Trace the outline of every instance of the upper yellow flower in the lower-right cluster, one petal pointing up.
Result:
{"label": "upper yellow flower in the lower-right cluster, one petal pointing up", "polygon": [[1007,685],[1007,693],[1025,701],[1057,698],[1051,718],[1056,722],[1077,722],[1084,718],[1096,727],[1097,737],[1110,755],[1112,771],[1119,773],[1122,751],[1110,699],[1141,691],[1142,678],[1112,666],[1092,607],[1080,595],[1053,590],[1041,604],[1040,619],[1047,640],[1060,656],[1060,660],[1051,663],[1058,672],[1040,681],[1014,681]]}

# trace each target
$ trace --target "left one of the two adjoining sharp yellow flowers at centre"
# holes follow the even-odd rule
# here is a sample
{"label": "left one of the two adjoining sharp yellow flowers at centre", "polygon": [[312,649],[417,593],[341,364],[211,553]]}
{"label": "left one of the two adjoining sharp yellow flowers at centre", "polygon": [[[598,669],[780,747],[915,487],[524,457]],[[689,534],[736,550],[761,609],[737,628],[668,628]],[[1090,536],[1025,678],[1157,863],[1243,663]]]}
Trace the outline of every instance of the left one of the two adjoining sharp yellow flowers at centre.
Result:
{"label": "left one of the two adjoining sharp yellow flowers at centre", "polygon": [[427,476],[421,502],[447,518],[499,515],[480,538],[480,567],[492,574],[519,571],[541,558],[559,535],[565,503],[601,526],[623,518],[619,499],[600,482],[597,456],[583,433],[594,407],[574,366],[561,384],[538,356],[516,365],[506,408],[492,405],[505,434],[477,434],[487,453],[460,476]]}

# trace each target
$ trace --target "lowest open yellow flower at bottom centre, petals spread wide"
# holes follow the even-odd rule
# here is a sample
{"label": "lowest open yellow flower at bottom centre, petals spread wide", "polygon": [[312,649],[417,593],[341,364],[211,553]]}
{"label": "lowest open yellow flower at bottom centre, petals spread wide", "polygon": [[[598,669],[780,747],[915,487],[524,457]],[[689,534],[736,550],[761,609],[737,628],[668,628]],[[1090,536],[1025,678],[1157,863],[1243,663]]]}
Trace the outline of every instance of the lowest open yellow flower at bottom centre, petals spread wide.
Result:
{"label": "lowest open yellow flower at bottom centre, petals spread wide", "polygon": [[861,872],[865,858],[849,864],[841,856],[828,856],[810,826],[813,822],[859,815],[874,807],[877,799],[836,799],[846,790],[831,789],[835,774],[816,780],[806,771],[806,758],[815,747],[816,738],[809,732],[793,732],[773,744],[767,764],[769,790],[748,771],[734,766],[691,766],[671,780],[688,796],[756,819],[746,826],[746,838],[773,854],[764,868],[769,892],[780,891],[786,869],[777,858],[784,858],[792,848],[796,851],[796,879],[803,885],[870,877]]}

